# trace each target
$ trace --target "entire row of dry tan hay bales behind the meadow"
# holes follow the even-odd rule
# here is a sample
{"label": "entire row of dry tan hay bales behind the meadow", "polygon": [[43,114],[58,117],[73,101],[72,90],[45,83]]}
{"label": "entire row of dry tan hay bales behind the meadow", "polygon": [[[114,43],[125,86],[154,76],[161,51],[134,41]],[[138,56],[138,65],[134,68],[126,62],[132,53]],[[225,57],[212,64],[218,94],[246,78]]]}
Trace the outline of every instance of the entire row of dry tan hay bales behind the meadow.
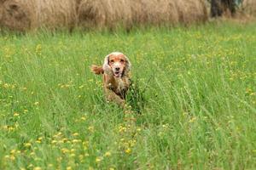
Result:
{"label": "entire row of dry tan hay bales behind the meadow", "polygon": [[[250,13],[255,2],[245,0]],[[207,18],[205,0],[0,0],[0,26],[15,31],[175,26]]]}

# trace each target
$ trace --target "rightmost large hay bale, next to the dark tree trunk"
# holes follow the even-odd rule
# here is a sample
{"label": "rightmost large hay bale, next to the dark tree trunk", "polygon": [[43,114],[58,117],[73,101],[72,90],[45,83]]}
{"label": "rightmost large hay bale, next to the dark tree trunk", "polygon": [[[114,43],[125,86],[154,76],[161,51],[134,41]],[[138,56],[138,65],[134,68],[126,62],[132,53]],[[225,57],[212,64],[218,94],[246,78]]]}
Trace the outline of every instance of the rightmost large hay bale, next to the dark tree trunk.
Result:
{"label": "rightmost large hay bale, next to the dark tree trunk", "polygon": [[131,0],[131,12],[136,23],[149,25],[177,25],[207,20],[204,0]]}

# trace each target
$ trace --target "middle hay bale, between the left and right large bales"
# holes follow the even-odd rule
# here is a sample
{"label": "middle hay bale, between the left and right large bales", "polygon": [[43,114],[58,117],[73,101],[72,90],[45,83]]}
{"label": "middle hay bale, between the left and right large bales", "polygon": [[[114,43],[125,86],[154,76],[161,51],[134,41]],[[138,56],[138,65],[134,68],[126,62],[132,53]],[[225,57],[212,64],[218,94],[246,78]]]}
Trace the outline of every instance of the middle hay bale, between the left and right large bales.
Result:
{"label": "middle hay bale, between the left and right large bales", "polygon": [[82,0],[79,4],[79,26],[115,29],[131,26],[131,8],[127,0]]}

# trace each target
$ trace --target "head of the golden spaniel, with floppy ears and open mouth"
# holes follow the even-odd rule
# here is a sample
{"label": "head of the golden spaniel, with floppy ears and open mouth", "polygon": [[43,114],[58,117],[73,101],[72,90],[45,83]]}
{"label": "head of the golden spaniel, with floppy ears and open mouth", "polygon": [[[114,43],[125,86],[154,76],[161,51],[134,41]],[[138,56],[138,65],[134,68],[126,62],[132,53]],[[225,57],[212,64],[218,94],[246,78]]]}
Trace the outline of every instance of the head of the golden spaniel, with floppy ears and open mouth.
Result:
{"label": "head of the golden spaniel, with floppy ears and open mouth", "polygon": [[131,69],[131,63],[125,54],[114,52],[105,57],[103,67],[109,65],[114,77],[124,77]]}

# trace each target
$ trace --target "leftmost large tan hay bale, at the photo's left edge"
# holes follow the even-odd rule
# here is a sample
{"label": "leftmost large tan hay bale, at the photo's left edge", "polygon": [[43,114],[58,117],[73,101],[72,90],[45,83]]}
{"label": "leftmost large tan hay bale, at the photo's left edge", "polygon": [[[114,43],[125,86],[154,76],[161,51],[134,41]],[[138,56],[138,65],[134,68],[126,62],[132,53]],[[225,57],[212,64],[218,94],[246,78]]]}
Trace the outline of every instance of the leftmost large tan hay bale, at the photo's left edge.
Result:
{"label": "leftmost large tan hay bale, at the photo's left edge", "polygon": [[73,0],[5,0],[2,6],[0,25],[11,30],[73,28],[76,24],[76,2]]}

